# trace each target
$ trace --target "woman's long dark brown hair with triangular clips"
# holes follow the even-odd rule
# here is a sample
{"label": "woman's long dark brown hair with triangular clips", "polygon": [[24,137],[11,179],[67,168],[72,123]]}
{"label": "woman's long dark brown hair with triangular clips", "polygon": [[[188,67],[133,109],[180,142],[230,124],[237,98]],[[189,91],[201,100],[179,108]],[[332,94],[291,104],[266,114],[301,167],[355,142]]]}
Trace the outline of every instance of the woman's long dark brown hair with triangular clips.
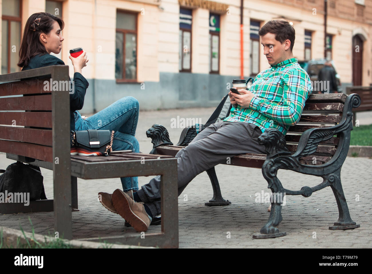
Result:
{"label": "woman's long dark brown hair with triangular clips", "polygon": [[40,42],[41,33],[49,34],[53,29],[54,21],[57,21],[61,30],[64,22],[61,18],[47,12],[38,12],[31,15],[25,25],[23,38],[19,49],[19,67],[27,66],[30,59],[38,54],[48,54],[45,46]]}

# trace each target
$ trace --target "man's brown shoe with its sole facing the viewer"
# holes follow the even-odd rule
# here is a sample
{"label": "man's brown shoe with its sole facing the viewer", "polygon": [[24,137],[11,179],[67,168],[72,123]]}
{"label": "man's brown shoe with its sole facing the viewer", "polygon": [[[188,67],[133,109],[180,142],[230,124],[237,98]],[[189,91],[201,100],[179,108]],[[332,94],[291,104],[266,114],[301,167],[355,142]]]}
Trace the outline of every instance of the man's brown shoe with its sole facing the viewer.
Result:
{"label": "man's brown shoe with its sole facing the viewer", "polygon": [[142,203],[135,202],[123,190],[116,189],[112,195],[112,203],[118,214],[137,231],[147,231],[151,218],[147,215]]}

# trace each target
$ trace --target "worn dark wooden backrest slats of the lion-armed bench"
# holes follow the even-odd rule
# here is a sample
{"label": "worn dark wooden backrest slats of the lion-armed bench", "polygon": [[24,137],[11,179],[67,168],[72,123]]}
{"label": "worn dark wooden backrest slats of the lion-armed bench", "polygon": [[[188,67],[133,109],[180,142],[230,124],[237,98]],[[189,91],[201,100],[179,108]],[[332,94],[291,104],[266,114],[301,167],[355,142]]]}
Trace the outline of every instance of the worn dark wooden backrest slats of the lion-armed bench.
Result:
{"label": "worn dark wooden backrest slats of the lion-armed bench", "polygon": [[[343,93],[310,95],[299,122],[289,127],[285,136],[289,151],[297,150],[298,141],[305,130],[337,125],[341,120],[346,98],[347,96]],[[337,136],[321,142],[313,155],[322,161],[328,161],[335,154],[338,143]]]}

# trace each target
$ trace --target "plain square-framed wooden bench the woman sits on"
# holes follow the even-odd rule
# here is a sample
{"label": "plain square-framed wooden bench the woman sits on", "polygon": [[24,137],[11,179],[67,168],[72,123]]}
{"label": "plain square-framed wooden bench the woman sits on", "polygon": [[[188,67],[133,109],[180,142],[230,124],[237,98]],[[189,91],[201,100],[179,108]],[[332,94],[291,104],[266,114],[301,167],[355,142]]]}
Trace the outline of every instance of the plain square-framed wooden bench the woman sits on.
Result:
{"label": "plain square-framed wooden bench the woman sits on", "polygon": [[[55,231],[72,239],[72,213],[78,208],[77,177],[100,179],[161,175],[161,232],[85,240],[129,245],[178,247],[177,160],[141,153],[108,157],[70,156],[69,92],[44,90],[44,81],[68,81],[68,66],[49,66],[0,75],[0,152],[7,158],[53,170],[54,200],[1,203],[1,213],[53,211]],[[9,97],[10,95],[15,95]],[[119,183],[119,181],[118,181]],[[97,190],[98,191],[98,190]],[[124,220],[123,220],[124,227]],[[150,230],[151,231],[151,230]]]}

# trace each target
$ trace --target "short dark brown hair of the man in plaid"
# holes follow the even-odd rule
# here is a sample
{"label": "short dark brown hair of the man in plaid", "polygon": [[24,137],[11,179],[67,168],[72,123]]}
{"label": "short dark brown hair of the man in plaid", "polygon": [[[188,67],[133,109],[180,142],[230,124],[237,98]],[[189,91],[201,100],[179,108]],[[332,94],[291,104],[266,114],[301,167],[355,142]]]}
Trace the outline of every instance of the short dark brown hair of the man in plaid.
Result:
{"label": "short dark brown hair of the man in plaid", "polygon": [[295,44],[295,29],[288,21],[285,20],[271,20],[264,24],[258,34],[263,36],[267,33],[275,34],[275,40],[284,43],[285,40],[291,41],[291,51]]}

